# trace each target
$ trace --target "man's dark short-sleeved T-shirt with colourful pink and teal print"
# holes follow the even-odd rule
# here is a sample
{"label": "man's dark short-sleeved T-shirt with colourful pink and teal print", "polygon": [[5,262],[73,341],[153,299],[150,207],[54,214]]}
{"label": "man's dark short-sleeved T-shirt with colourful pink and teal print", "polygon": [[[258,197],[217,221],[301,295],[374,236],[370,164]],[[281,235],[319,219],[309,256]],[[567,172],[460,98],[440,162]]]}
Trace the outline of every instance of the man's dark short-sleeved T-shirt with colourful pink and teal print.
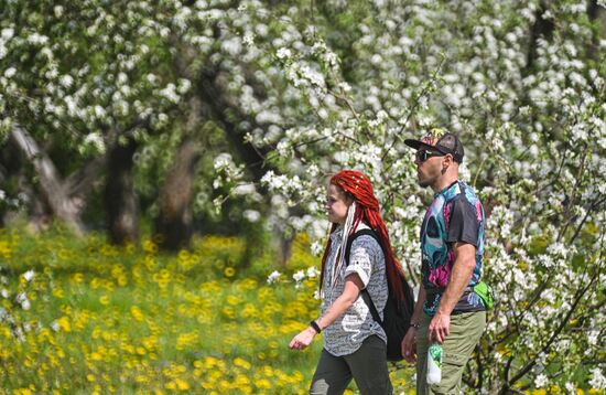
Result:
{"label": "man's dark short-sleeved T-shirt with colourful pink and teal print", "polygon": [[[457,242],[476,247],[476,267],[469,287],[479,282],[484,255],[484,207],[474,190],[456,181],[434,195],[421,226],[421,280],[426,292],[423,310],[433,316],[453,269]],[[453,313],[486,310],[481,299],[467,288]]]}

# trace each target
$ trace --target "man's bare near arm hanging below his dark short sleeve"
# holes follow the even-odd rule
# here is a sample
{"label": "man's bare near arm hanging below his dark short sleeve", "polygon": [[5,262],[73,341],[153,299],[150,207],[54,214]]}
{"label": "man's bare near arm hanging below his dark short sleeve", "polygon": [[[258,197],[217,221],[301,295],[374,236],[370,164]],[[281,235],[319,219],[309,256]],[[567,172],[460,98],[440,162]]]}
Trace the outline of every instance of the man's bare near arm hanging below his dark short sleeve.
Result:
{"label": "man's bare near arm hanging below his dark short sleeve", "polygon": [[469,279],[476,267],[476,247],[473,244],[456,243],[454,253],[455,261],[448,286],[442,293],[437,311],[433,316],[428,331],[429,340],[435,339],[439,343],[444,342],[450,333],[451,312],[469,285]]}

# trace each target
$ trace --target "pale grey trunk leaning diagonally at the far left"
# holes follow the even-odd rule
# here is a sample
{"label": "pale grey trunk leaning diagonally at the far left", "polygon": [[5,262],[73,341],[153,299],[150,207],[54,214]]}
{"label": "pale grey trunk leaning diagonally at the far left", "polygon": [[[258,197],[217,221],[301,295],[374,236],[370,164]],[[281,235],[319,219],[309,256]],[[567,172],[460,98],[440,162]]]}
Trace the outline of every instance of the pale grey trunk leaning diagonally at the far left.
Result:
{"label": "pale grey trunk leaning diagonally at the far left", "polygon": [[84,233],[79,218],[82,206],[79,201],[72,199],[51,158],[30,134],[19,126],[11,130],[10,141],[32,163],[40,180],[42,201],[46,201],[52,212],[76,235],[80,236]]}

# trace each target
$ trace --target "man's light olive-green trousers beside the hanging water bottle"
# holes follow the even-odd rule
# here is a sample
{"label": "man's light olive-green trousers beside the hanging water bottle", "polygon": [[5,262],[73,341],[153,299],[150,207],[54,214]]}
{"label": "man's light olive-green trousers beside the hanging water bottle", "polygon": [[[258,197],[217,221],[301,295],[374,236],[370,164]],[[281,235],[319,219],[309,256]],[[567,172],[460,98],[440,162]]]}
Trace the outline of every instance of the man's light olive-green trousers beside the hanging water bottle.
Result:
{"label": "man's light olive-green trousers beside the hanging water bottle", "polygon": [[432,317],[423,313],[416,333],[416,394],[461,394],[461,378],[469,356],[486,327],[486,311],[451,316],[450,334],[442,344],[442,381],[429,385],[428,328]]}

